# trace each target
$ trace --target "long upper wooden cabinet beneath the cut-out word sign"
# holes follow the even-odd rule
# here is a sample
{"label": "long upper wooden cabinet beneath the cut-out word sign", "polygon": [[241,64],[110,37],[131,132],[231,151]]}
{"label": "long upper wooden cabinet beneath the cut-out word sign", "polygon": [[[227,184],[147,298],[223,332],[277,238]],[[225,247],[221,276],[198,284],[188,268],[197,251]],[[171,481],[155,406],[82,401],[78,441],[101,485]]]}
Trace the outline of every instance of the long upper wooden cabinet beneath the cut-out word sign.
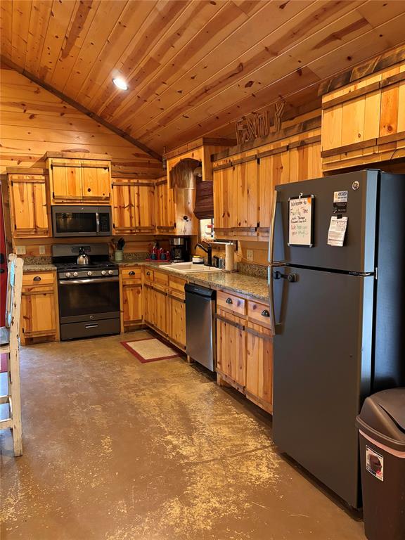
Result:
{"label": "long upper wooden cabinet beneath the cut-out word sign", "polygon": [[269,236],[278,184],[321,172],[321,118],[291,124],[267,143],[247,143],[214,155],[214,232],[217,238]]}

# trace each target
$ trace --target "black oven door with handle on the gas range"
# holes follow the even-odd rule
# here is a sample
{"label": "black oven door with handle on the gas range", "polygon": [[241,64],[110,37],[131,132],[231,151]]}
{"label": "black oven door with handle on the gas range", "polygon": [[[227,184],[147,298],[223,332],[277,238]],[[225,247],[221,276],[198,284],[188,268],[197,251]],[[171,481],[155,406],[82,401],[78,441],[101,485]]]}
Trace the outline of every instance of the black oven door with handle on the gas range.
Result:
{"label": "black oven door with handle on the gas range", "polygon": [[120,278],[58,281],[60,324],[120,317]]}

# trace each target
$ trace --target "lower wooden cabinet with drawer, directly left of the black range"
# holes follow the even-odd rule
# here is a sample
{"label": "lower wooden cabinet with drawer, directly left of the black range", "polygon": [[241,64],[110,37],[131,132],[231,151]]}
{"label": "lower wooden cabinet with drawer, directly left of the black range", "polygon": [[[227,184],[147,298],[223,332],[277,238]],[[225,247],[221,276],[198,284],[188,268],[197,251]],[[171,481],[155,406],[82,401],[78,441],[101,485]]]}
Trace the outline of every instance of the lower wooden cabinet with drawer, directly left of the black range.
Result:
{"label": "lower wooden cabinet with drawer, directly left of the black range", "polygon": [[53,272],[23,274],[20,340],[23,345],[58,339],[58,302]]}

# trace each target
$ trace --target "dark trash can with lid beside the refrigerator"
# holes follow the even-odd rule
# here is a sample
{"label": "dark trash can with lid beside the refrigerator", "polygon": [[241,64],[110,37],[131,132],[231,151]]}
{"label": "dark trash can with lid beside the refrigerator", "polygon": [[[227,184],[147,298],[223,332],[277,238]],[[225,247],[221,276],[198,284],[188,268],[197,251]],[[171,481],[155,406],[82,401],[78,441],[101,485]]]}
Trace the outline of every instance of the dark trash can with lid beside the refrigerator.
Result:
{"label": "dark trash can with lid beside the refrigerator", "polygon": [[368,540],[404,540],[405,388],[368,397],[356,426],[366,536]]}

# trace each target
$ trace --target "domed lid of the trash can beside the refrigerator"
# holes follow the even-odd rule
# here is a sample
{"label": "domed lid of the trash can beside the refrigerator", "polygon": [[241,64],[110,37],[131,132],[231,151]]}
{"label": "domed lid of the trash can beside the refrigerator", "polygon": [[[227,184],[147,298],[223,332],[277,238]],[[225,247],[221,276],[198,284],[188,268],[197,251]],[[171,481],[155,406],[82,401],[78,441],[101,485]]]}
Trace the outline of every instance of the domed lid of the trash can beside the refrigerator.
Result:
{"label": "domed lid of the trash can beside the refrigerator", "polygon": [[389,448],[405,451],[405,388],[392,388],[366,398],[356,425]]}

